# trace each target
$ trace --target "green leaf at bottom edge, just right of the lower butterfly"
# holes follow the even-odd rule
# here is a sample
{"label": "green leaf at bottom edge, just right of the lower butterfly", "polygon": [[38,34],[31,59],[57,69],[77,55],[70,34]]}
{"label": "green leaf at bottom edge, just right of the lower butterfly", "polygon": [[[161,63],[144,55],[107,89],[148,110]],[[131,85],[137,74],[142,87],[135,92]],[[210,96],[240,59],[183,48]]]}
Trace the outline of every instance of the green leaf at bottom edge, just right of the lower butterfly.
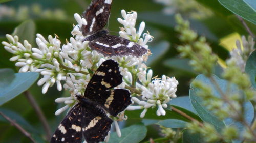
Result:
{"label": "green leaf at bottom edge, just right of the lower butterfly", "polygon": [[147,129],[143,125],[132,125],[121,130],[119,138],[115,133],[110,134],[109,143],[137,143],[146,137]]}

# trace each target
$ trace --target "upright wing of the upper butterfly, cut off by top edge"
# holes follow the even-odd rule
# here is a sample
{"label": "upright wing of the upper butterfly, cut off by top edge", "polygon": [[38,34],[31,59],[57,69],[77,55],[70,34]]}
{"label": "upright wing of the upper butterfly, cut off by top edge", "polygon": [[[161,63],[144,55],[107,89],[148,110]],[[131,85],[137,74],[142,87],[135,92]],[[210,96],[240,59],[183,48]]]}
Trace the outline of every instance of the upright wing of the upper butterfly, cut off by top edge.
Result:
{"label": "upright wing of the upper butterfly, cut off by top edge", "polygon": [[87,20],[87,25],[82,25],[84,36],[101,30],[108,21],[112,0],[93,0],[82,16]]}

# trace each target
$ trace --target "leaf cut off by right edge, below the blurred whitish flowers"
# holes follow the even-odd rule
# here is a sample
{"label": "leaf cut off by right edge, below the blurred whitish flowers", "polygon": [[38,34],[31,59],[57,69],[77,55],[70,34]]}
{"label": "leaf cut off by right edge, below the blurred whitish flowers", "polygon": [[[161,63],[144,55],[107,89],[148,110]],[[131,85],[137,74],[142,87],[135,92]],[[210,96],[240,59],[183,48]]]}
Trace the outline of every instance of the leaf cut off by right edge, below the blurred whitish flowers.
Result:
{"label": "leaf cut off by right edge, below the blurred whitish flowers", "polygon": [[250,76],[251,84],[254,88],[256,88],[256,51],[252,52],[249,56],[246,66],[245,72]]}

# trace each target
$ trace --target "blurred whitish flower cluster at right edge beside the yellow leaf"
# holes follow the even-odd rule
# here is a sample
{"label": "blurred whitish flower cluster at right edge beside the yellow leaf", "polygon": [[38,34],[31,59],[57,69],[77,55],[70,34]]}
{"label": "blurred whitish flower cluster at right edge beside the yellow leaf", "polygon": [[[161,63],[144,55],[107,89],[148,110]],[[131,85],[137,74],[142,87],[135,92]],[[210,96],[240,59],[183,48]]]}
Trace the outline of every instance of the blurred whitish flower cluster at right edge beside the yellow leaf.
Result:
{"label": "blurred whitish flower cluster at right edge beside the yellow leaf", "polygon": [[230,51],[230,59],[227,60],[227,64],[236,63],[236,65],[241,69],[242,72],[245,72],[245,65],[248,57],[253,52],[255,42],[251,36],[248,36],[248,41],[245,36],[242,36],[242,45],[239,40],[236,41],[237,48],[233,48]]}

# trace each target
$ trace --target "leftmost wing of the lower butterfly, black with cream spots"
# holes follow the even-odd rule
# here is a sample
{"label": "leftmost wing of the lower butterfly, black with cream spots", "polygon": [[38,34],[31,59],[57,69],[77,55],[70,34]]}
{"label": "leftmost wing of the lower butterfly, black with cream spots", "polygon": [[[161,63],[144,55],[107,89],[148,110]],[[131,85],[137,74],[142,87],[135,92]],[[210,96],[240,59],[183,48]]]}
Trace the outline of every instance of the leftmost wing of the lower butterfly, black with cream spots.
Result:
{"label": "leftmost wing of the lower butterfly, black with cream spots", "polygon": [[81,143],[82,141],[82,112],[81,104],[75,105],[61,121],[57,130],[51,138],[51,143],[74,142]]}

